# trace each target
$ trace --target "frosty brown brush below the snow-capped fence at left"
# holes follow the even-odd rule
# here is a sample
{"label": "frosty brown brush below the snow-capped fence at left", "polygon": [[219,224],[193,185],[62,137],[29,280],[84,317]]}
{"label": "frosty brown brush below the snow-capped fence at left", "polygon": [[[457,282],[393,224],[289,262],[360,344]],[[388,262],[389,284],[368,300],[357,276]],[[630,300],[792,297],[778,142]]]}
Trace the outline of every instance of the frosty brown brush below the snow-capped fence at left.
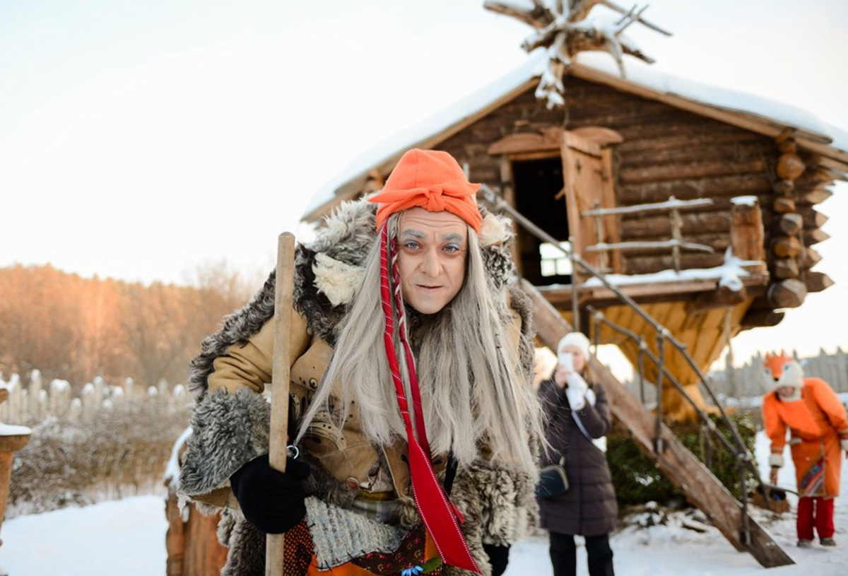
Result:
{"label": "frosty brown brush below the snow-capped fence at left", "polygon": [[80,417],[74,399],[64,416],[32,426],[14,454],[7,517],[85,505],[126,495],[165,494],[162,475],[171,446],[186,428],[189,400],[150,398],[110,402]]}

